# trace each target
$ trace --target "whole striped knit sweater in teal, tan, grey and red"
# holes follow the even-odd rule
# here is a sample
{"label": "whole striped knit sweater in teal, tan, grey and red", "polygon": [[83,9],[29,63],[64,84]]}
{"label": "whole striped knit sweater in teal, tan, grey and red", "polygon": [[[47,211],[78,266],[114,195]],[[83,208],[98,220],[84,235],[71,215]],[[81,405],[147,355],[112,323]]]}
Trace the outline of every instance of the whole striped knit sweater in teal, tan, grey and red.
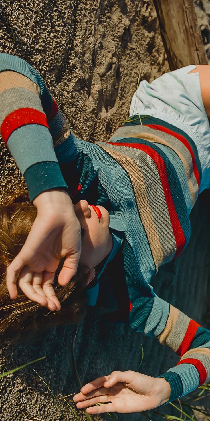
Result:
{"label": "whole striped knit sweater in teal, tan, grey and red", "polygon": [[207,381],[210,332],[155,295],[149,283],[189,241],[189,213],[202,176],[193,140],[146,115],[130,118],[108,142],[77,139],[37,71],[4,53],[0,131],[31,200],[47,189],[64,188],[74,203],[85,198],[107,208],[123,229],[129,324],[181,357],[160,376],[171,385],[168,402]]}

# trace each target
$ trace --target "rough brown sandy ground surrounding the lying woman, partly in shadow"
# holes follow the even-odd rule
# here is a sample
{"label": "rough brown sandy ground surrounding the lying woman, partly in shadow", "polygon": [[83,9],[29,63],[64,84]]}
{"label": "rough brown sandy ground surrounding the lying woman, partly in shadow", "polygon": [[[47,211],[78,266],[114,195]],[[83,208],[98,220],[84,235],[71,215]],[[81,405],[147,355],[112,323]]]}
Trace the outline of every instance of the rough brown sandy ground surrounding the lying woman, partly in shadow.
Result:
{"label": "rough brown sandy ground surrounding the lying woman, partly in shadow", "polygon": [[[128,116],[141,66],[141,80],[151,81],[169,71],[151,0],[5,0],[0,2],[0,16],[0,52],[18,55],[37,69],[76,136],[87,141],[108,139]],[[14,184],[23,185],[3,143],[0,161],[1,186],[11,191]],[[202,324],[209,310],[205,300],[210,297],[208,193],[202,193],[192,211],[192,238],[186,250],[152,279],[161,298]],[[75,326],[62,326],[37,334],[32,344],[8,349],[1,356],[0,373],[46,355],[33,366],[35,370],[48,383],[53,366],[53,392],[64,396],[75,392],[74,333]],[[140,341],[143,373],[156,376],[176,363],[176,355],[154,339],[142,335]],[[79,325],[75,355],[84,384],[115,369],[137,370],[141,347],[129,328],[108,324],[92,309]],[[2,421],[61,419],[31,367],[3,378],[0,396]],[[65,420],[75,419],[67,405],[61,405]],[[79,416],[86,419],[82,413]],[[139,414],[118,415],[122,421],[140,419]],[[152,421],[156,419],[153,414]]]}

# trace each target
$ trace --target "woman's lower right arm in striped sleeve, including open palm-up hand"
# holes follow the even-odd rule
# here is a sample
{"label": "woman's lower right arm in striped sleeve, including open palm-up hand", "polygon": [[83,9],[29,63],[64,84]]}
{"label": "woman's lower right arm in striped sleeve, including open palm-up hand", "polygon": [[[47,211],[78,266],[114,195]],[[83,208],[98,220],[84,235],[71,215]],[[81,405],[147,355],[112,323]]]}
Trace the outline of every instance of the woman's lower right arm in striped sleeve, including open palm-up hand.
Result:
{"label": "woman's lower right arm in striped sleeve, including open palm-up hand", "polygon": [[[147,291],[149,288],[148,285]],[[180,355],[181,360],[176,367],[157,377],[134,371],[113,371],[110,376],[97,378],[74,396],[79,409],[87,408],[90,414],[150,410],[192,392],[209,380],[209,330],[149,293],[139,298],[139,305],[134,306],[132,312],[130,319],[134,330],[157,337],[161,344],[170,346]],[[91,406],[99,402],[104,405]]]}

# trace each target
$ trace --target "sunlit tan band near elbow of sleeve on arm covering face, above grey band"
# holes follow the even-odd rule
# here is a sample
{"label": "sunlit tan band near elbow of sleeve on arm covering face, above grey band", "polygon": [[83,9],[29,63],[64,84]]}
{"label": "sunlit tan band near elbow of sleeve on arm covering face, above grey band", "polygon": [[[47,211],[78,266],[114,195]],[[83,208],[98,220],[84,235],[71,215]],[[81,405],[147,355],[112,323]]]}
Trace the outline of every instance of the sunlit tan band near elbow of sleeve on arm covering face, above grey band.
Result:
{"label": "sunlit tan band near elbow of sleeve on arm covering face, above grey band", "polygon": [[11,70],[6,70],[5,72],[0,72],[0,93],[6,91],[10,88],[26,88],[29,91],[32,91],[36,95],[40,95],[39,86],[32,82],[29,77],[21,75],[20,73],[13,72]]}

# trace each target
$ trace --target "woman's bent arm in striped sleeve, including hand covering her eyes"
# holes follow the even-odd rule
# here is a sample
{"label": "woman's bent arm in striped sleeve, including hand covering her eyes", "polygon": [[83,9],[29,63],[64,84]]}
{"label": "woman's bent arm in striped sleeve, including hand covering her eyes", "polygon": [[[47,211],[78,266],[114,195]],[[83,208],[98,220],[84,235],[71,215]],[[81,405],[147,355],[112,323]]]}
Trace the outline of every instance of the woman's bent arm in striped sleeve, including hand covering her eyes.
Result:
{"label": "woman's bent arm in striped sleeve, including hand covering her eyes", "polygon": [[26,242],[7,268],[8,292],[11,298],[17,296],[18,277],[29,299],[58,310],[52,287],[55,271],[66,256],[58,282],[66,285],[76,273],[81,227],[55,152],[71,162],[79,154],[79,142],[37,71],[4,53],[0,54],[0,132],[37,207]]}

